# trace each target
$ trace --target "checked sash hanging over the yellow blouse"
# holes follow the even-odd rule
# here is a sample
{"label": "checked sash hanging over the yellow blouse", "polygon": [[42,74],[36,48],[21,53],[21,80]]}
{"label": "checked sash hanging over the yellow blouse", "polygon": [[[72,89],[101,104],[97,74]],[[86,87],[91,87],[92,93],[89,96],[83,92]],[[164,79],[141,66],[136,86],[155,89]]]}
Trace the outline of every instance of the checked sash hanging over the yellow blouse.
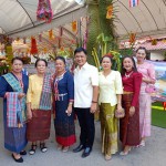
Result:
{"label": "checked sash hanging over the yellow blouse", "polygon": [[39,105],[40,110],[50,111],[52,108],[51,96],[52,96],[51,74],[46,73],[43,80],[42,93],[41,93],[40,105]]}

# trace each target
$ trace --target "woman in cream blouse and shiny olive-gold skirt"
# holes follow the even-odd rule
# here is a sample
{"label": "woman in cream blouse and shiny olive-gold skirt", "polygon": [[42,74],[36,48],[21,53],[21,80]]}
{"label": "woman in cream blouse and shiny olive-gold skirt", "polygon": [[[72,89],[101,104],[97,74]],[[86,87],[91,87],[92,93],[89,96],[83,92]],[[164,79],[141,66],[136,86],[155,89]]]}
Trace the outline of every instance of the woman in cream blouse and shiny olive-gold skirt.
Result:
{"label": "woman in cream blouse and shiny olive-gold skirt", "polygon": [[105,55],[101,60],[103,71],[100,72],[100,120],[102,133],[102,153],[105,159],[117,152],[117,118],[115,110],[122,108],[122,77],[118,71],[111,70],[112,59]]}

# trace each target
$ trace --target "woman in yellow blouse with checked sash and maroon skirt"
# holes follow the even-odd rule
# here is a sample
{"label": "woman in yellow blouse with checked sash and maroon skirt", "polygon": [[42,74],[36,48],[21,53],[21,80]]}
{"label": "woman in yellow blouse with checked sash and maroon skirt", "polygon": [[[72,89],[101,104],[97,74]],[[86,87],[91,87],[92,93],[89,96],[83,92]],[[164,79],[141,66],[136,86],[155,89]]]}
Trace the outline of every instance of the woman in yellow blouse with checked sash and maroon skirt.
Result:
{"label": "woman in yellow blouse with checked sash and maroon skirt", "polygon": [[40,142],[42,153],[48,151],[45,139],[50,136],[51,127],[51,74],[46,73],[48,62],[38,59],[35,62],[37,74],[30,76],[27,107],[28,107],[28,129],[27,138],[32,142],[30,155],[37,149],[37,143]]}

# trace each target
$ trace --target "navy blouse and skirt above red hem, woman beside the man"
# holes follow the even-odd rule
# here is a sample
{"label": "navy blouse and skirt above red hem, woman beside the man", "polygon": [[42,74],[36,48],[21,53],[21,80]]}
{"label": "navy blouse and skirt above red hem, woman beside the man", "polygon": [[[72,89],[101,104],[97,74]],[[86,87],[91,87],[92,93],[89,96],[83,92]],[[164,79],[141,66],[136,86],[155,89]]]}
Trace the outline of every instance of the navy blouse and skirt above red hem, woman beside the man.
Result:
{"label": "navy blouse and skirt above red hem, woman beside the man", "polygon": [[60,96],[60,101],[55,101],[55,135],[59,137],[68,137],[75,134],[74,126],[74,114],[68,116],[65,113],[69,101],[74,98],[74,81],[71,73],[64,73],[62,80],[58,82],[59,94],[64,94],[63,97]]}

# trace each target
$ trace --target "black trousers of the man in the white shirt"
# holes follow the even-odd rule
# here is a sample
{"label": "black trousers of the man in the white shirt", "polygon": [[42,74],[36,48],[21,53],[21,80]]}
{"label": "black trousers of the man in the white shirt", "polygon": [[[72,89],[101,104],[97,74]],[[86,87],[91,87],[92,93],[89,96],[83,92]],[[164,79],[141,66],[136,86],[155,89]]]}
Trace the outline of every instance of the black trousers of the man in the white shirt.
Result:
{"label": "black trousers of the man in the white shirt", "polygon": [[95,135],[94,114],[90,112],[90,108],[81,107],[74,107],[74,112],[81,127],[80,143],[84,147],[92,148]]}

